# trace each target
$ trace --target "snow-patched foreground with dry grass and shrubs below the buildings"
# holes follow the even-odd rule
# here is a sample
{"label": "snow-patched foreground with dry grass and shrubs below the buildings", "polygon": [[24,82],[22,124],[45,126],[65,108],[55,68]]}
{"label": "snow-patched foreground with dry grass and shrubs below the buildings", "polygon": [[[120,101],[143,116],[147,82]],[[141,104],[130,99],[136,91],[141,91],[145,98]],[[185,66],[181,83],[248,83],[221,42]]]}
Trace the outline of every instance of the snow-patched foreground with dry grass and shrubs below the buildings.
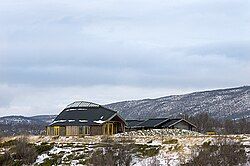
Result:
{"label": "snow-patched foreground with dry grass and shrubs below the buildings", "polygon": [[[1,165],[177,166],[199,165],[206,160],[250,164],[250,135],[209,136],[186,130],[155,129],[109,137],[5,137],[0,147]],[[32,158],[25,153],[36,155]],[[22,155],[30,156],[30,161],[23,161]]]}

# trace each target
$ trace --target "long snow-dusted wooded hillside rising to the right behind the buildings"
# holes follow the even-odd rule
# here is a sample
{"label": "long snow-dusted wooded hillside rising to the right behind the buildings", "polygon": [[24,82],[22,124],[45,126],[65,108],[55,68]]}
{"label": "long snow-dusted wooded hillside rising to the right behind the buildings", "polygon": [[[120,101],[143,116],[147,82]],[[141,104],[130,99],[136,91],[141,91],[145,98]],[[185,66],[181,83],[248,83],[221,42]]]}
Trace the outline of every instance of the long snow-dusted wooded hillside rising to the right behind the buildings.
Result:
{"label": "long snow-dusted wooded hillside rising to the right behind the buildings", "polygon": [[208,112],[215,118],[250,117],[250,86],[194,92],[106,105],[125,119],[177,117]]}

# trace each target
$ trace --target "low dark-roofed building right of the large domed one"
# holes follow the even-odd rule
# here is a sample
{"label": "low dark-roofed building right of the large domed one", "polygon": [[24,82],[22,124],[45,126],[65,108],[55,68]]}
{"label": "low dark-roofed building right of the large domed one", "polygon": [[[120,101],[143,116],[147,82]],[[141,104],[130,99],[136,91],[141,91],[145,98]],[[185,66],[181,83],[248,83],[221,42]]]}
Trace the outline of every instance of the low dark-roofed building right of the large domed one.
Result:
{"label": "low dark-roofed building right of the large domed one", "polygon": [[186,129],[194,130],[196,126],[185,119],[168,119],[168,118],[152,118],[142,122],[139,120],[128,120],[127,130],[139,130],[139,129]]}

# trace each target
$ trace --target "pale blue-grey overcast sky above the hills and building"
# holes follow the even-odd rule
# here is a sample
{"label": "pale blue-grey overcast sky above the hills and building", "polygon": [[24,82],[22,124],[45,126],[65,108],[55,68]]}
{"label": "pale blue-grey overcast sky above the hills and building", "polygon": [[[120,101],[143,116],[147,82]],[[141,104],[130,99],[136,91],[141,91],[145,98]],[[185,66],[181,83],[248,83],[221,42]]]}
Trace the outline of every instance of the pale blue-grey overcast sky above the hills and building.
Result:
{"label": "pale blue-grey overcast sky above the hills and building", "polygon": [[0,0],[0,116],[249,84],[249,0]]}

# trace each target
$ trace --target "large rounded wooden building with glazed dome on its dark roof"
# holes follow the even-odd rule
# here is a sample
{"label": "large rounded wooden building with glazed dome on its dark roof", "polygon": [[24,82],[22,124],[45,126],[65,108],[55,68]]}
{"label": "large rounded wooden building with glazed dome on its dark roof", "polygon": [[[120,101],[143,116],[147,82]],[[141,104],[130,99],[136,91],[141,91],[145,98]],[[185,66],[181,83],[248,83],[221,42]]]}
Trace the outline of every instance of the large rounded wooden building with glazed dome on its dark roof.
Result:
{"label": "large rounded wooden building with glazed dome on its dark roof", "polygon": [[76,101],[47,126],[47,135],[113,135],[125,131],[126,122],[116,112],[99,104]]}

